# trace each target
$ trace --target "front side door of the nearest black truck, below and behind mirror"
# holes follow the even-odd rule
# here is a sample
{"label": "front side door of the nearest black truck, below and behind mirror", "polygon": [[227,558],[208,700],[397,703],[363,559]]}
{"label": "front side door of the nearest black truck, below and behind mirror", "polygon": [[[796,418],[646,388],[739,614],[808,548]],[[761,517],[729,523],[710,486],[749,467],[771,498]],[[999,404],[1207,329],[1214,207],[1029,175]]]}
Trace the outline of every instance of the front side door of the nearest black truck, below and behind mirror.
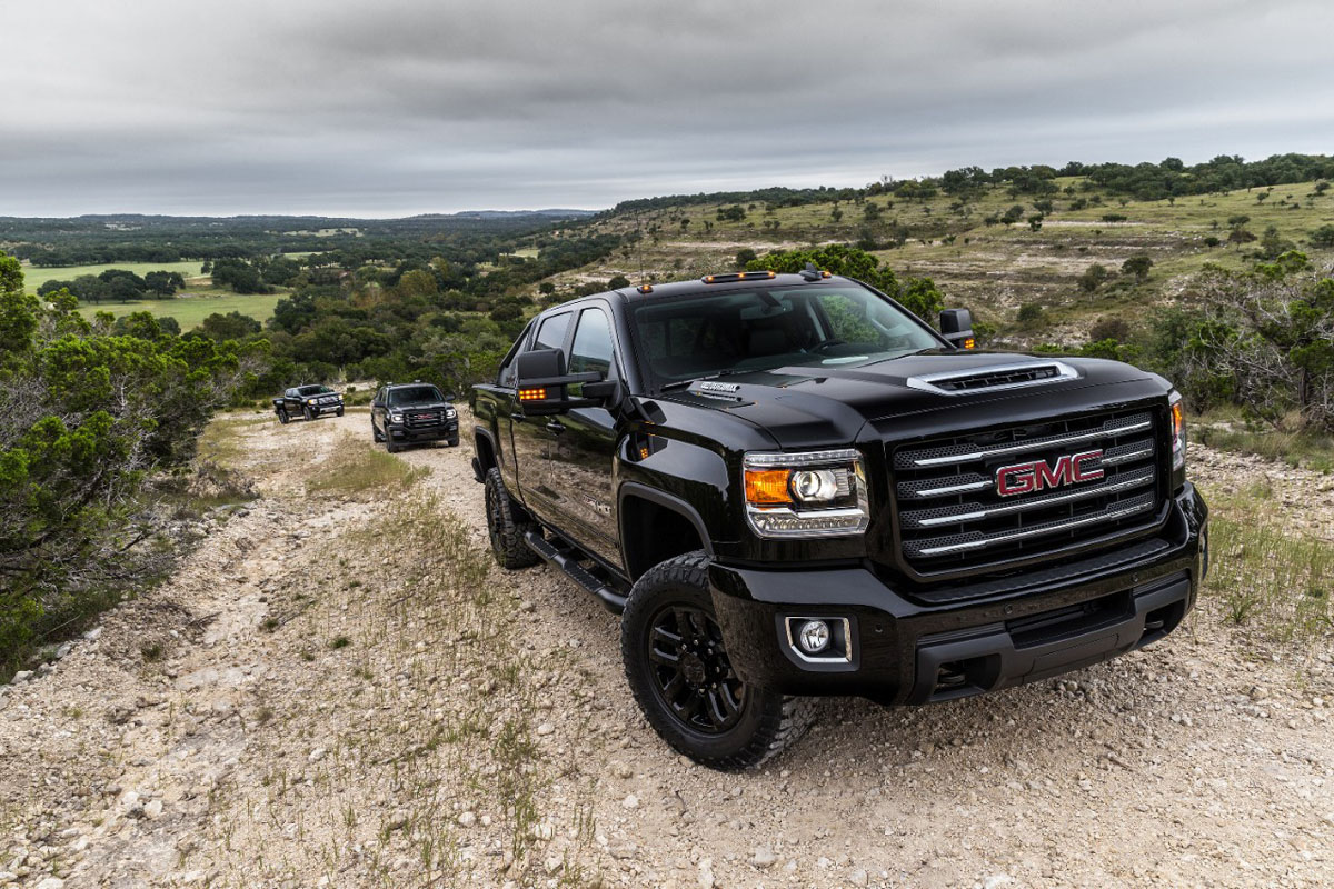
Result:
{"label": "front side door of the nearest black truck, below and behind mirror", "polygon": [[[567,353],[570,373],[596,371],[606,379],[620,379],[611,319],[603,308],[579,313]],[[572,384],[568,396],[578,399],[582,389],[583,384]],[[547,461],[546,486],[559,513],[556,526],[584,549],[622,566],[614,477],[620,437],[616,415],[606,408],[574,408],[547,420],[544,432],[550,436],[552,458]]]}

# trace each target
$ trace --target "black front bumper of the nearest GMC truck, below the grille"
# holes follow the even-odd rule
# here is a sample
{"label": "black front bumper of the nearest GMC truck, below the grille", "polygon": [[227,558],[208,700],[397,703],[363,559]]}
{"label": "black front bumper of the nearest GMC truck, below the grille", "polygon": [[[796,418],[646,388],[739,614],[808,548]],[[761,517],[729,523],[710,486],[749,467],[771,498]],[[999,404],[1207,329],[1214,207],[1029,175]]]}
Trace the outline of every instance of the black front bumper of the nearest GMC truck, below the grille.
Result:
{"label": "black front bumper of the nearest GMC truck, below the grille", "polygon": [[[1173,632],[1209,565],[1209,510],[1187,484],[1155,545],[1007,578],[1005,594],[923,604],[867,568],[767,570],[714,562],[714,608],[736,673],[788,694],[924,704],[980,694],[1123,654]],[[1143,554],[1147,553],[1147,554]],[[810,658],[790,618],[847,633],[844,656]],[[844,624],[846,621],[846,624]],[[798,621],[792,626],[799,626]]]}

